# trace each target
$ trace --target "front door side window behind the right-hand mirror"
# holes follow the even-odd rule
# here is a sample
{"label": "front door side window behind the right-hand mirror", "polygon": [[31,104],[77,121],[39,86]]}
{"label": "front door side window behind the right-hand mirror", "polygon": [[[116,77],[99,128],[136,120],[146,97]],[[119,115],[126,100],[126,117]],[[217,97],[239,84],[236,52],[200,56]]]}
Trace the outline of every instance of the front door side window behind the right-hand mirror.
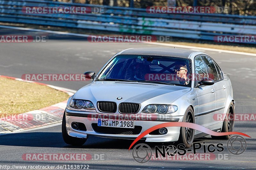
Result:
{"label": "front door side window behind the right-hand mirror", "polygon": [[196,84],[201,81],[203,77],[210,78],[207,73],[207,68],[200,55],[195,57],[195,78]]}

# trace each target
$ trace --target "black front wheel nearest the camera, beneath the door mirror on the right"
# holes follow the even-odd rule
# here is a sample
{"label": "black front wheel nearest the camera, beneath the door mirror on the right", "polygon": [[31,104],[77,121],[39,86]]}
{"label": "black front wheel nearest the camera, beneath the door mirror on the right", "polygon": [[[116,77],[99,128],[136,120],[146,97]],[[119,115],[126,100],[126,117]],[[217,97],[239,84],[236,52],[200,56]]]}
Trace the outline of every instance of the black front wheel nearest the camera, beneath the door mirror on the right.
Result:
{"label": "black front wheel nearest the camera, beneath the door mirror on the right", "polygon": [[[194,111],[190,106],[186,110],[182,122],[195,123]],[[195,129],[180,127],[180,136],[177,144],[184,144],[186,148],[190,148],[193,144],[194,136]]]}

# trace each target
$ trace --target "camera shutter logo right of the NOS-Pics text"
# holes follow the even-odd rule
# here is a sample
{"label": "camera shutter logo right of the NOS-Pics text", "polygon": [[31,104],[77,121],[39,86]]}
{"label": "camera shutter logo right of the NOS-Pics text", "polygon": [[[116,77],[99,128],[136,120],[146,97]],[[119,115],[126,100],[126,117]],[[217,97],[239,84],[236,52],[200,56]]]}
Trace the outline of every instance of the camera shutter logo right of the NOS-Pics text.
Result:
{"label": "camera shutter logo right of the NOS-Pics text", "polygon": [[246,140],[239,135],[232,136],[228,139],[227,148],[228,151],[234,155],[240,155],[245,152],[247,147]]}

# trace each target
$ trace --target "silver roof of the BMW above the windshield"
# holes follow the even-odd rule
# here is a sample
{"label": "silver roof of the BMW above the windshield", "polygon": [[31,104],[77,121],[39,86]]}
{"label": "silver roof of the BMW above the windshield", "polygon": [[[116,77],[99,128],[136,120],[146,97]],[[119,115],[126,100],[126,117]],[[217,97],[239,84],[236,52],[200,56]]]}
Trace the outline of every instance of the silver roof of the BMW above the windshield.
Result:
{"label": "silver roof of the BMW above the windshield", "polygon": [[130,48],[120,54],[161,55],[188,58],[191,53],[195,53],[195,51],[177,48]]}

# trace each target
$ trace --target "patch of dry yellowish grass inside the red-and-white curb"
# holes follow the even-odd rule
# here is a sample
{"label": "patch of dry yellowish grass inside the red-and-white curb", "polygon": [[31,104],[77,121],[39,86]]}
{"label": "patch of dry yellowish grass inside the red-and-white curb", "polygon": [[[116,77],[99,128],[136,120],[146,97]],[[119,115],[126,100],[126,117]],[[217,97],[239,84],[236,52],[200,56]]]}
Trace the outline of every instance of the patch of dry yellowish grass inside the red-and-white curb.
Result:
{"label": "patch of dry yellowish grass inside the red-and-white curb", "polygon": [[47,86],[0,77],[0,114],[20,114],[63,102],[68,94]]}

